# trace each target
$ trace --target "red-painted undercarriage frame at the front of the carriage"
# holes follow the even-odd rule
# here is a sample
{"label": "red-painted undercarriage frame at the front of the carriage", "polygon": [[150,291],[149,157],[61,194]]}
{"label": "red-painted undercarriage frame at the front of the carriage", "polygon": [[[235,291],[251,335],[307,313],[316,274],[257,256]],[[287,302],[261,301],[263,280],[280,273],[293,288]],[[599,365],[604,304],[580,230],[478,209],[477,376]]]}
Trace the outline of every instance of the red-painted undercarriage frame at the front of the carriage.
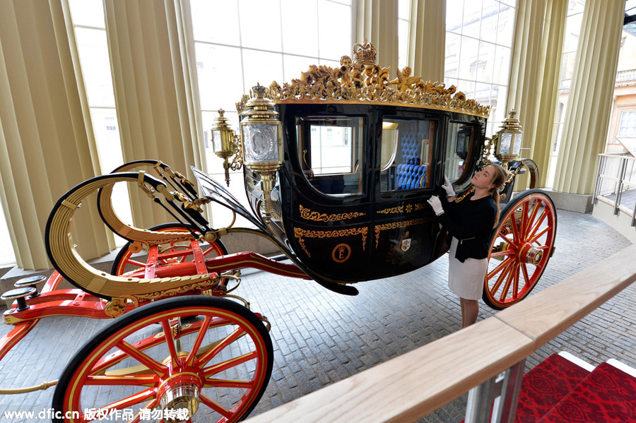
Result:
{"label": "red-painted undercarriage frame at the front of the carriage", "polygon": [[[191,261],[185,261],[188,256],[194,257]],[[289,278],[310,279],[305,272],[294,264],[281,263],[271,260],[260,254],[252,252],[242,252],[237,254],[227,254],[213,258],[204,258],[204,252],[199,243],[193,241],[190,248],[179,251],[169,251],[160,253],[158,246],[151,246],[148,250],[148,261],[146,263],[129,261],[139,267],[131,273],[126,273],[130,278],[172,278],[187,275],[220,275],[229,270],[239,270],[243,268],[255,268],[265,270],[275,275],[287,276]],[[7,318],[20,319],[9,333],[0,338],[0,359],[11,350],[13,345],[23,339],[31,329],[35,327],[40,318],[48,316],[81,316],[88,318],[110,318],[105,313],[104,307],[107,304],[105,299],[95,297],[80,289],[58,290],[62,276],[55,271],[42,287],[40,295],[28,297],[26,303],[28,309],[17,310],[16,302],[11,309],[4,312],[5,322]],[[201,294],[201,290],[185,292],[184,295]],[[213,292],[214,294],[214,292]],[[126,306],[126,312],[134,309],[134,304]]]}

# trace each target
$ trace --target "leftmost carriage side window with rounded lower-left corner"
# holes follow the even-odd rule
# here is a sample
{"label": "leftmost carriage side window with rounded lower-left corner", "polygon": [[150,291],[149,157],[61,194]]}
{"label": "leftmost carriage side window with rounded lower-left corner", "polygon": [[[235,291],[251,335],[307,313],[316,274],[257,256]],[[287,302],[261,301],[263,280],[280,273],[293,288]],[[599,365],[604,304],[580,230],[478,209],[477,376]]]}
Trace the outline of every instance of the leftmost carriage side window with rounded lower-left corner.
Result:
{"label": "leftmost carriage side window with rounded lower-left corner", "polygon": [[362,192],[363,118],[296,119],[300,164],[315,189],[329,195]]}

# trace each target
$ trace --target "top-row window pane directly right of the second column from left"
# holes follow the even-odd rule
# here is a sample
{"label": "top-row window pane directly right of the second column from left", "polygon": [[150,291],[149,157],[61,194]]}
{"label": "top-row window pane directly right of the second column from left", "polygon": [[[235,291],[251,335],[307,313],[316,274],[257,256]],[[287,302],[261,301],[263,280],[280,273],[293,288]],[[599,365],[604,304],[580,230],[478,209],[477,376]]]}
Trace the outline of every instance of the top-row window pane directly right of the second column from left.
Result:
{"label": "top-row window pane directly right of the second column from left", "polygon": [[240,45],[237,0],[191,0],[194,40]]}

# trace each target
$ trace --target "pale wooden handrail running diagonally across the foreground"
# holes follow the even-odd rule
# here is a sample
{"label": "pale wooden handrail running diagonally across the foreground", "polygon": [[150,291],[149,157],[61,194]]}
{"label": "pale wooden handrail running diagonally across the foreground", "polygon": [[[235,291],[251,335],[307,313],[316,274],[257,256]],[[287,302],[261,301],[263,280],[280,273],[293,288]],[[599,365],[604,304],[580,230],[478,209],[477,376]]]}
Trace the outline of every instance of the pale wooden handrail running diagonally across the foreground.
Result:
{"label": "pale wooden handrail running diagonally across the foreground", "polygon": [[636,244],[469,328],[247,419],[414,422],[531,355],[636,280]]}

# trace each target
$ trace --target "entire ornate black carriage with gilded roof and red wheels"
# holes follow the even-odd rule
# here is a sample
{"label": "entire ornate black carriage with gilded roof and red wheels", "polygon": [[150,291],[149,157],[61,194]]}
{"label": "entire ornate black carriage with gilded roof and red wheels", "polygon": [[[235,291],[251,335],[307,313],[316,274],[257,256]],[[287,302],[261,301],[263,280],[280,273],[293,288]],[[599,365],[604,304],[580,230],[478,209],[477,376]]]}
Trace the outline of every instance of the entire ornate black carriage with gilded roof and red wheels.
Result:
{"label": "entire ornate black carriage with gilded roof and red wheels", "polygon": [[[33,387],[57,383],[55,421],[134,409],[134,422],[157,410],[166,422],[189,422],[205,405],[202,421],[237,422],[258,402],[273,362],[269,322],[230,294],[240,269],[356,294],[355,282],[416,270],[447,251],[448,234],[426,200],[440,195],[444,176],[456,191],[469,189],[476,169],[493,160],[493,140],[484,135],[490,107],[408,68],[389,78],[370,43],[353,53],[340,67],[312,66],[290,83],[257,85],[237,104],[240,136],[220,112],[213,148],[228,184],[229,169],[244,168],[252,210],[204,172],[192,168],[196,189],[157,160],[126,163],[59,199],[46,230],[57,271],[39,295],[30,287],[44,282],[37,278],[5,294],[16,303],[4,320],[16,328],[1,340],[0,358],[45,316],[117,319],[76,353],[59,381]],[[510,174],[484,280],[483,299],[497,309],[531,292],[555,240],[550,198],[536,189],[512,196],[521,172],[531,188],[538,184],[534,162],[519,159],[519,129],[511,114],[494,137],[495,157]],[[119,182],[136,184],[179,222],[126,224],[111,200]],[[84,261],[70,236],[73,216],[95,191],[102,220],[128,240],[110,273]],[[212,227],[203,214],[212,201],[252,227],[233,227],[234,220]],[[237,232],[271,240],[287,260],[228,254],[223,237]],[[62,278],[77,289],[59,289]]]}

